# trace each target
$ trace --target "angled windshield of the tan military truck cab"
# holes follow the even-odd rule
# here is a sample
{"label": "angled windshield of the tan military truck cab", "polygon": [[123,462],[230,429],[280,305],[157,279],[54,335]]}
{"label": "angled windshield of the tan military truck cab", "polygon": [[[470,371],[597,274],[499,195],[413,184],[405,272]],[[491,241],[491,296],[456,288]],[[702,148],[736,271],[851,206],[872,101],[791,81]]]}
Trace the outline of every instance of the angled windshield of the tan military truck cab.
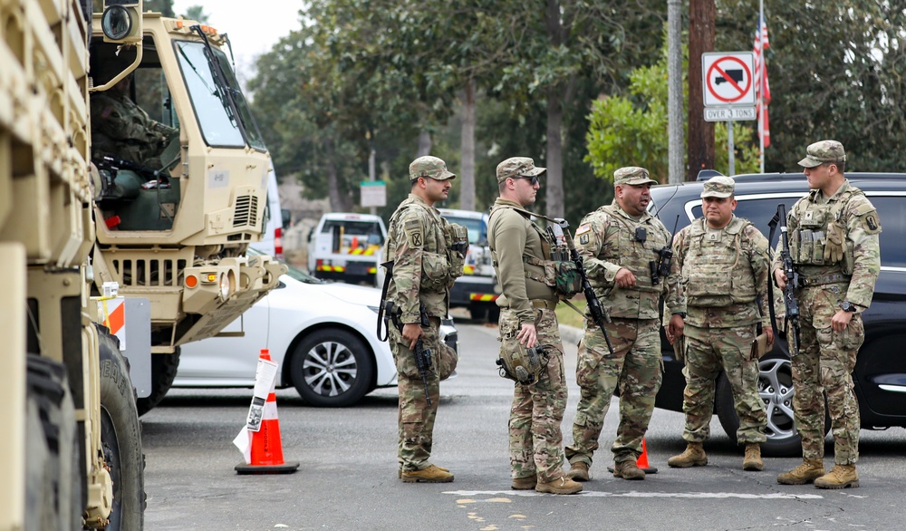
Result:
{"label": "angled windshield of the tan military truck cab", "polygon": [[[236,76],[230,70],[226,54],[217,49],[212,49],[226,74],[225,90],[229,91],[238,111],[234,116],[228,101],[221,100],[221,91],[218,90],[217,81],[211,66],[205,57],[205,44],[189,41],[177,41],[176,53],[183,79],[188,87],[188,95],[192,100],[192,108],[198,118],[198,125],[205,137],[208,146],[220,148],[244,148],[246,141],[249,146],[265,150],[265,142],[261,138],[258,126],[248,110],[248,104]],[[240,123],[241,121],[241,127]],[[248,138],[243,138],[245,130]]]}

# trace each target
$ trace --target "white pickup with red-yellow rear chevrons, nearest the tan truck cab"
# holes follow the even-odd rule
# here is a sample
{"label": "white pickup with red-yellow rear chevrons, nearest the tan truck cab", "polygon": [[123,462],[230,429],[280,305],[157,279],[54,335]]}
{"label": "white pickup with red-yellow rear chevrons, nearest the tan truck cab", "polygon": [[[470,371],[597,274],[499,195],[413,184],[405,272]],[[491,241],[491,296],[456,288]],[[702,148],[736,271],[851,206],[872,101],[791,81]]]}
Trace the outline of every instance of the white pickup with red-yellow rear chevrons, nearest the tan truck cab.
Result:
{"label": "white pickup with red-yellow rear chevrons, nearest the tan truck cab", "polygon": [[318,278],[375,285],[385,239],[380,216],[324,214],[309,237],[308,271]]}

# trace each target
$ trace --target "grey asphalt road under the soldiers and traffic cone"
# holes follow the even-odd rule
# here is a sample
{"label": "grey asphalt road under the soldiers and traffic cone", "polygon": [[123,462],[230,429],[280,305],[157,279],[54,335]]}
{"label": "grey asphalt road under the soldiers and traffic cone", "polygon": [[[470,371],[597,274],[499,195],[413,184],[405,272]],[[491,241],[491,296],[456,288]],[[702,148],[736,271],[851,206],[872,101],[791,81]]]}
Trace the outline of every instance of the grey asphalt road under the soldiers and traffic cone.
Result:
{"label": "grey asphalt road under the soldiers and traffic cone", "polygon": [[[506,420],[512,382],[496,373],[496,328],[458,322],[458,377],[441,384],[433,461],[450,468],[448,484],[403,484],[397,478],[395,389],[359,405],[324,410],[294,390],[277,391],[284,458],[291,475],[238,476],[232,439],[245,422],[251,390],[177,390],[142,418],[147,465],[145,528],[169,529],[900,529],[906,478],[906,430],[863,430],[862,487],[819,490],[776,483],[799,459],[766,459],[743,472],[742,452],[711,423],[708,466],[672,469],[682,415],[656,410],[646,438],[657,474],[615,479],[610,444],[612,402],[595,455],[592,481],[575,496],[509,489]],[[250,354],[250,355],[255,355]],[[579,391],[575,348],[567,345],[570,400],[564,441],[572,440]],[[825,467],[833,466],[828,445]]]}

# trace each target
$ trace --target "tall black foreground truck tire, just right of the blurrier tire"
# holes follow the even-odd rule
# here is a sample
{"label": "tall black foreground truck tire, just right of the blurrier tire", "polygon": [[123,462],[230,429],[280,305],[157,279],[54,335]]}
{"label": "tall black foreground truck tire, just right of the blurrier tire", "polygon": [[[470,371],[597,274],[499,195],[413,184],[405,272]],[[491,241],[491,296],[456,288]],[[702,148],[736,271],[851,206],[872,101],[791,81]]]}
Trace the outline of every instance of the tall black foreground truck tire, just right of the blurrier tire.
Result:
{"label": "tall black foreground truck tire, just right of the blurrier tire", "polygon": [[139,414],[129,365],[115,340],[99,333],[101,343],[101,449],[113,480],[113,510],[108,531],[141,529],[145,512],[145,457],[141,453]]}

